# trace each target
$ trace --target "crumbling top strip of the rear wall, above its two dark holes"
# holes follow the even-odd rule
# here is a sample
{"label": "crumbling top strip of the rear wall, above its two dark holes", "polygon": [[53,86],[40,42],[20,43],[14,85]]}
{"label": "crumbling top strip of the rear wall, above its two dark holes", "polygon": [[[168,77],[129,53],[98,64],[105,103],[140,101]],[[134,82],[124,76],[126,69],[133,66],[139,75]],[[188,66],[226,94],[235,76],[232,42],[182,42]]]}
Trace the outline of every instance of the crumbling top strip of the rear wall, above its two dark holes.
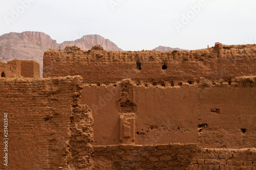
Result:
{"label": "crumbling top strip of the rear wall, above its two dark holes", "polygon": [[[64,53],[64,54],[61,54]],[[66,53],[66,54],[65,54]],[[67,46],[62,50],[48,50],[44,58],[61,60],[81,60],[81,62],[168,62],[168,61],[207,61],[227,59],[255,59],[256,44],[223,45],[219,42],[214,47],[191,51],[105,51],[101,46],[93,46],[89,51],[82,51],[78,46]]]}

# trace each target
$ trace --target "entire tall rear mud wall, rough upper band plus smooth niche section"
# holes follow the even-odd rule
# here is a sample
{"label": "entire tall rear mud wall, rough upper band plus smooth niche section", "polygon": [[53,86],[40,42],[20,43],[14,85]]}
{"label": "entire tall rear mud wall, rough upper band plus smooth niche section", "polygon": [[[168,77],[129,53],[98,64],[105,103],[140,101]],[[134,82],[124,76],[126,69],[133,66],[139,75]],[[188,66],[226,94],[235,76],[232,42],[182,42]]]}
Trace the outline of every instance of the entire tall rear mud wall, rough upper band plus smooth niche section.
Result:
{"label": "entire tall rear mud wall, rough upper band plus smooth niche section", "polygon": [[255,50],[220,43],[182,52],[73,46],[45,52],[44,76],[83,77],[81,103],[93,111],[95,145],[255,148]]}

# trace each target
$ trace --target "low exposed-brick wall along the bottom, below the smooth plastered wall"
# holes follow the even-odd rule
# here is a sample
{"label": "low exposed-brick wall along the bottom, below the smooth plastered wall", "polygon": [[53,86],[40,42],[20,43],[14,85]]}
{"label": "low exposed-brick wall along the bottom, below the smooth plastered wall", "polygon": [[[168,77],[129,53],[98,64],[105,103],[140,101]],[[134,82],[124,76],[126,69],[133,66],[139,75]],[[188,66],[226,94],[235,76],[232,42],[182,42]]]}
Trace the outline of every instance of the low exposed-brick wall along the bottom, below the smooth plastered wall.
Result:
{"label": "low exposed-brick wall along the bottom, below the smooth plastered wall", "polygon": [[201,149],[196,144],[93,148],[95,169],[256,169],[255,149]]}

